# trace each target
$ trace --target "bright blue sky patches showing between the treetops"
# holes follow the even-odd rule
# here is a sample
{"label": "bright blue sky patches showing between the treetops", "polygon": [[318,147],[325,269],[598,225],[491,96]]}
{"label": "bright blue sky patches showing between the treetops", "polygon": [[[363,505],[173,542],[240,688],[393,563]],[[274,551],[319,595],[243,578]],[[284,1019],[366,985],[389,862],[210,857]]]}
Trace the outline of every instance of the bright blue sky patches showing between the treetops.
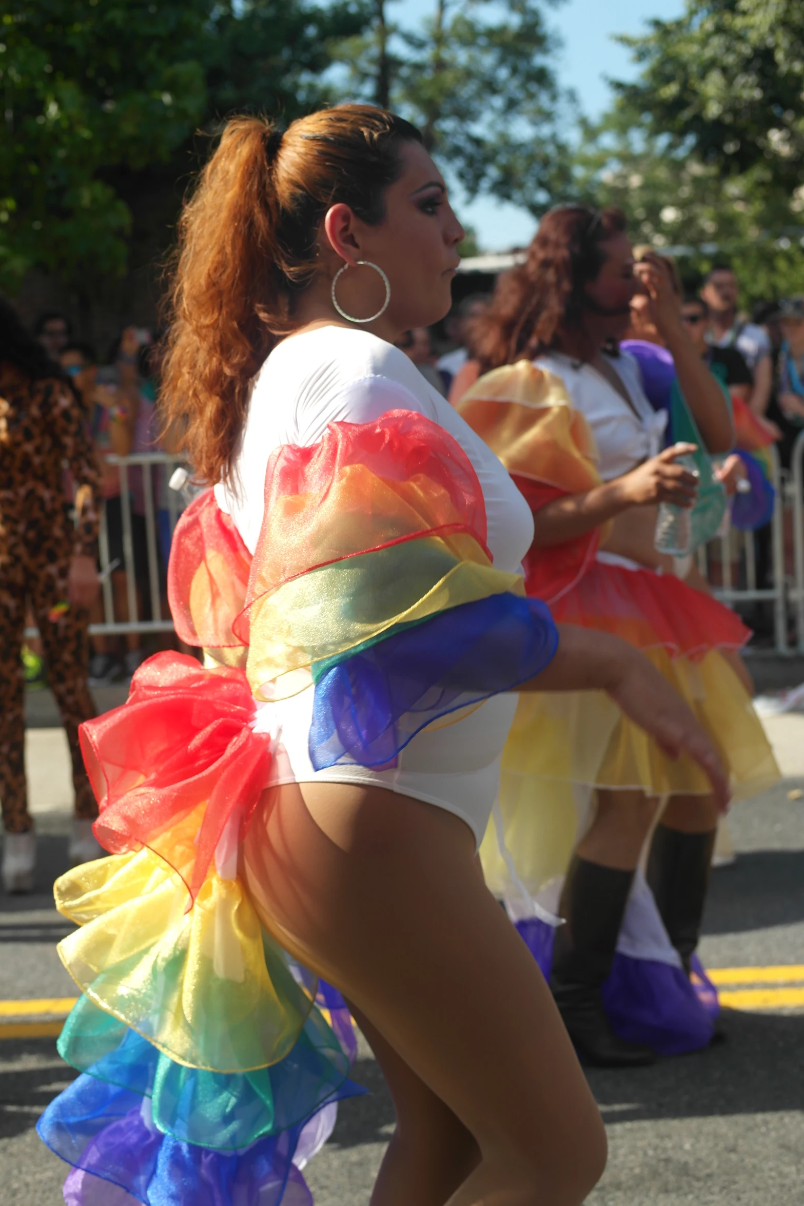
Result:
{"label": "bright blue sky patches showing between the treetops", "polygon": [[[575,89],[589,117],[599,116],[610,100],[605,77],[628,80],[635,74],[627,48],[611,35],[639,34],[651,17],[673,19],[683,7],[683,0],[564,0],[547,8],[547,21],[564,43],[557,60],[561,83]],[[415,24],[432,11],[433,0],[404,0],[394,16]],[[526,244],[533,235],[535,222],[523,210],[491,198],[463,205],[454,199],[462,221],[476,229],[486,250]]]}

